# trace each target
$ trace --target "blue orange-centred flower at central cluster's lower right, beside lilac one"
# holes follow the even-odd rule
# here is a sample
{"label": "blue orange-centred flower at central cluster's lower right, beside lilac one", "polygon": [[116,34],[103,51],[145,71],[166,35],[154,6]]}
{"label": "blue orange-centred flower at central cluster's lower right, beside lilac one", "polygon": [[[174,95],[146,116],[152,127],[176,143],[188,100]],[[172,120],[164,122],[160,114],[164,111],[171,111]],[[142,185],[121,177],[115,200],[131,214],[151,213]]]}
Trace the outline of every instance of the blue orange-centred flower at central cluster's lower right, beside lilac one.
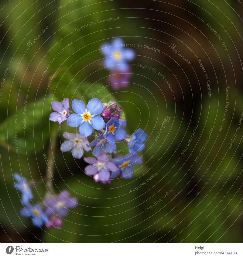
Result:
{"label": "blue orange-centred flower at central cluster's lower right, beside lilac one", "polygon": [[142,164],[142,157],[137,156],[137,153],[129,153],[124,157],[118,157],[112,160],[117,167],[117,171],[111,172],[111,178],[117,177],[120,173],[124,178],[131,178],[133,174],[133,165]]}

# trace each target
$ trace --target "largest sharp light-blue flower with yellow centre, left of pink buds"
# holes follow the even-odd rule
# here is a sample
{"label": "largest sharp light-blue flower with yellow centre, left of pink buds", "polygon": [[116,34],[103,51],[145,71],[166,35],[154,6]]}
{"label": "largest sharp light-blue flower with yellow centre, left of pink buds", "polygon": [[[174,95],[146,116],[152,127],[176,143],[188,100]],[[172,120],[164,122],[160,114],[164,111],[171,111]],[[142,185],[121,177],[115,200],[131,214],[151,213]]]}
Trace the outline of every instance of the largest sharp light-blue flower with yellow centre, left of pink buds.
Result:
{"label": "largest sharp light-blue flower with yellow centre, left of pink buds", "polygon": [[77,114],[71,114],[67,119],[67,123],[72,127],[79,126],[79,132],[84,137],[90,136],[93,128],[95,130],[104,128],[104,120],[99,115],[103,111],[103,105],[98,98],[92,98],[87,107],[85,107],[84,101],[74,99],[72,108]]}

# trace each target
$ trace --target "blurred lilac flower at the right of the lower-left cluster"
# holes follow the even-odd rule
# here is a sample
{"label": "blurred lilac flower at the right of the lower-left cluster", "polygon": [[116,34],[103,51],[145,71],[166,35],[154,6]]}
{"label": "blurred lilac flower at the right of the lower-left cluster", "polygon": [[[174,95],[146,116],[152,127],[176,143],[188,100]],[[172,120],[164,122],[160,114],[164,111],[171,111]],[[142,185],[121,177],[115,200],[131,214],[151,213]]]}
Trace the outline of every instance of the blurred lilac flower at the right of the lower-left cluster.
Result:
{"label": "blurred lilac flower at the right of the lower-left cluster", "polygon": [[70,193],[64,190],[57,197],[47,198],[45,204],[47,206],[45,212],[48,216],[56,214],[63,218],[67,216],[68,209],[77,206],[77,198],[70,197]]}

